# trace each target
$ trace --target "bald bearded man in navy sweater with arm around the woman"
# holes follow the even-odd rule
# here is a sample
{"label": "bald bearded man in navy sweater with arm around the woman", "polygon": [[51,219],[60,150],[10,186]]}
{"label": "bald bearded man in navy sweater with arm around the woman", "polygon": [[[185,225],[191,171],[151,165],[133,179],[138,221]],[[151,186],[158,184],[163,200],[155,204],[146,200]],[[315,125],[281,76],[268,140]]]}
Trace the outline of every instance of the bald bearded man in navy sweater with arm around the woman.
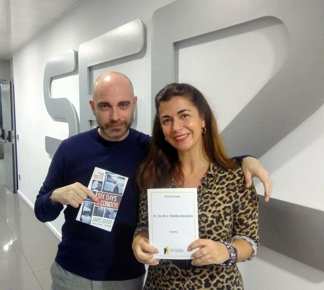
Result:
{"label": "bald bearded man in navy sweater with arm around the woman", "polygon": [[[52,290],[142,289],[145,268],[131,245],[139,201],[135,171],[150,137],[131,128],[136,102],[125,75],[99,76],[89,100],[98,127],[65,139],[53,156],[35,202],[36,217],[42,222],[56,219],[67,205],[62,242],[51,268]],[[95,167],[129,178],[111,232],[75,220],[84,199],[98,200],[87,188]],[[247,159],[242,169],[247,186],[251,176],[258,175],[270,196],[271,180],[259,162]]]}

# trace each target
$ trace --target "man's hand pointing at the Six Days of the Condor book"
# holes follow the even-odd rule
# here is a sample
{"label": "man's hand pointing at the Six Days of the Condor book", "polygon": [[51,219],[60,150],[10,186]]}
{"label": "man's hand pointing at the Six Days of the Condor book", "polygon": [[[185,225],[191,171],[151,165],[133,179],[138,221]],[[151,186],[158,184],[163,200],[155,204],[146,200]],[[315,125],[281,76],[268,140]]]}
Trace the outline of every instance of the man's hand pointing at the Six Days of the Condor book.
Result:
{"label": "man's hand pointing at the Six Days of the Condor book", "polygon": [[91,198],[93,201],[98,201],[98,198],[90,189],[79,182],[75,182],[73,184],[55,189],[52,192],[51,201],[54,204],[69,204],[74,208],[78,208],[82,201],[87,197]]}

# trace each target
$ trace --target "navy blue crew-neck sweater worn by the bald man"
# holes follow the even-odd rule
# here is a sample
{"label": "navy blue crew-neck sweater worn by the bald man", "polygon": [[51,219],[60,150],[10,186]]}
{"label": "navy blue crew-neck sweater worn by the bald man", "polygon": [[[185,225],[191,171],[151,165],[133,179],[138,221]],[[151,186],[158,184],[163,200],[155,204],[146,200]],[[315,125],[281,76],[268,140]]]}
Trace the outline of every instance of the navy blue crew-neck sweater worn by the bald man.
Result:
{"label": "navy blue crew-neck sweater worn by the bald man", "polygon": [[139,202],[135,171],[149,141],[148,135],[130,129],[124,140],[110,142],[95,128],[64,140],[57,149],[35,202],[36,217],[42,222],[56,219],[63,209],[51,203],[52,191],[75,182],[87,187],[95,167],[129,177],[111,232],[76,221],[79,209],[66,207],[55,258],[65,270],[99,281],[134,279],[145,273],[144,264],[133,255],[132,241]]}

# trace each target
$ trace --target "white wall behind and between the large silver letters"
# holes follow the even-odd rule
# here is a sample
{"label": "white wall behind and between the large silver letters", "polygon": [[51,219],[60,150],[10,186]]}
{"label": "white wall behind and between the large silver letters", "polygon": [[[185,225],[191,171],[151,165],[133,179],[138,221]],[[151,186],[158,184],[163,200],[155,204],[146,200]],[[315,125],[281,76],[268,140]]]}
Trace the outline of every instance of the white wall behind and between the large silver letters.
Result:
{"label": "white wall behind and between the large silver letters", "polygon": [[[16,127],[17,134],[19,134],[17,163],[18,173],[21,175],[19,194],[31,206],[35,202],[51,162],[50,156],[45,152],[45,136],[61,139],[68,136],[67,124],[54,121],[45,108],[43,73],[47,60],[70,48],[77,51],[83,42],[135,18],[141,18],[145,24],[147,36],[143,57],[134,57],[129,63],[108,68],[100,66],[93,72],[93,78],[95,79],[99,74],[110,69],[128,75],[133,81],[135,94],[139,98],[138,115],[140,117],[137,129],[150,133],[151,17],[157,8],[170,2],[172,1],[85,1],[13,55]],[[270,37],[273,34],[276,35],[275,38]],[[245,35],[220,37],[190,47],[179,44],[176,47],[178,79],[191,82],[206,94],[217,112],[220,127],[223,129],[283,64],[288,46],[286,34],[284,26],[278,24],[257,28]],[[242,49],[242,39],[245,43],[244,57],[237,57],[233,61],[238,48]],[[215,51],[218,56],[222,55],[222,57],[215,57]],[[239,70],[240,67],[244,67],[245,70]],[[249,73],[246,73],[247,70]],[[199,73],[201,71],[203,71],[204,78],[199,78],[202,75]],[[233,71],[236,71],[235,75],[232,74]],[[220,94],[213,94],[215,87],[218,92],[221,91]],[[53,97],[67,97],[79,113],[77,74],[54,80],[52,94]],[[323,172],[321,164],[324,157],[323,113],[324,107],[319,108],[315,114],[260,158],[272,175],[273,198],[324,210],[324,179],[321,176]],[[257,189],[262,194],[263,188],[258,182]],[[61,214],[56,221],[51,223],[52,230],[58,236],[61,233],[63,221]],[[262,278],[257,281],[258,287],[255,277],[248,274],[248,270],[245,271],[246,289],[265,289],[262,287],[263,284],[271,285],[273,276],[269,275],[268,271],[276,269],[280,272],[282,262],[288,263],[291,269],[300,266],[295,260],[285,260],[286,257],[278,254],[278,267],[274,265],[274,268],[269,268],[267,257],[271,255],[266,255],[263,259],[254,262],[259,271],[258,275]],[[245,263],[244,267],[245,265],[249,269],[249,263]],[[310,274],[314,272],[312,269],[305,266],[305,273],[309,273],[310,278],[303,280],[301,288],[318,287],[319,282]],[[289,271],[282,275],[285,289],[299,288],[298,279],[299,282],[294,284],[296,275],[298,276],[299,273]]]}

